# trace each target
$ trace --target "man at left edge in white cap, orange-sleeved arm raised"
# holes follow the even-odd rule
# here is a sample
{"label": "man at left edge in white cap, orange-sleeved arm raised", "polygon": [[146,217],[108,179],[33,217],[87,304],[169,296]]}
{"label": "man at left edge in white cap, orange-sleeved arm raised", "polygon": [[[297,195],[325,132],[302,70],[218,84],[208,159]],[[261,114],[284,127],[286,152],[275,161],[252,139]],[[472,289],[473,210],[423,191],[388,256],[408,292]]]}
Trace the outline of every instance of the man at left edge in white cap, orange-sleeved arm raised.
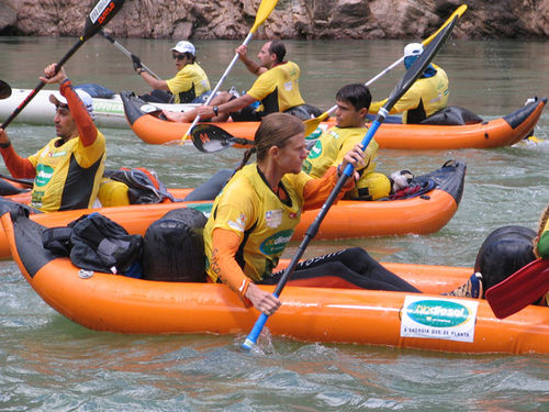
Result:
{"label": "man at left edge in white cap, orange-sleeved arm raised", "polygon": [[32,178],[31,207],[43,212],[91,208],[103,177],[105,140],[93,124],[90,94],[74,89],[61,67],[44,69],[40,79],[59,83],[60,97],[51,94],[55,104],[57,136],[34,155],[23,158],[15,153],[8,134],[0,129],[0,153],[14,178]]}

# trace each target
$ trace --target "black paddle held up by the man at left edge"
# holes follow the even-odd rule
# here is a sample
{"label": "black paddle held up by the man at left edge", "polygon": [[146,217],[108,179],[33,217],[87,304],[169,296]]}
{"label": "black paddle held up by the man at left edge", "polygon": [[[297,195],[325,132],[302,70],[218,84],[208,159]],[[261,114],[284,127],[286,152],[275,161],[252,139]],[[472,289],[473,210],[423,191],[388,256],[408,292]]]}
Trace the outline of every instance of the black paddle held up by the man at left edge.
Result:
{"label": "black paddle held up by the man at left edge", "polygon": [[[56,74],[59,68],[80,48],[80,46],[90,37],[92,37],[103,25],[105,25],[113,16],[122,9],[124,0],[99,0],[93,10],[86,19],[86,25],[83,27],[83,34],[80,36],[78,42],[67,52],[65,56],[57,62]],[[10,114],[10,116],[2,123],[1,129],[8,127],[8,124],[12,122],[15,116],[21,113],[29,102],[34,99],[40,90],[46,83],[41,80],[38,86],[36,86],[33,91],[18,105],[18,108]]]}

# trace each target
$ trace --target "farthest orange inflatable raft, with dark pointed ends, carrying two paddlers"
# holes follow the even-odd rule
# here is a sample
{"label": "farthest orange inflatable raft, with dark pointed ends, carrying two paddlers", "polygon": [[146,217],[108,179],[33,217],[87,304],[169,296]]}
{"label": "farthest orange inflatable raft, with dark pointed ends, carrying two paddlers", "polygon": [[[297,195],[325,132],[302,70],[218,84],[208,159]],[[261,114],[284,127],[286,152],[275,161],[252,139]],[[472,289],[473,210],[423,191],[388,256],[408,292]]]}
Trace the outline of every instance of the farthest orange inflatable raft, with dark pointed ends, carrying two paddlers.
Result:
{"label": "farthest orange inflatable raft, with dark pointed ends, carrying two paddlers", "polygon": [[[159,112],[150,112],[145,102],[132,93],[122,92],[127,122],[145,143],[168,144],[181,141],[189,123],[175,123],[160,119]],[[383,123],[376,133],[381,148],[395,149],[451,149],[490,148],[511,146],[527,137],[538,122],[547,98],[514,111],[513,113],[467,125],[427,125]],[[145,109],[143,109],[145,107]],[[236,137],[253,140],[258,122],[213,123]],[[318,134],[335,124],[332,118],[322,123]]]}

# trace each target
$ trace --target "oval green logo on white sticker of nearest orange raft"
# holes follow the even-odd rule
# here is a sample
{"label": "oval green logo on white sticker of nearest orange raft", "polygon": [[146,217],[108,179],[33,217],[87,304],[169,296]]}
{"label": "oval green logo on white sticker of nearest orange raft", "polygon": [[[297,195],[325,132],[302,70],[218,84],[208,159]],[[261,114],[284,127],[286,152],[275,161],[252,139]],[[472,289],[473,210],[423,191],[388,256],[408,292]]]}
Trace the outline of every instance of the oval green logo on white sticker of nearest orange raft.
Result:
{"label": "oval green logo on white sticker of nearest orange raft", "polygon": [[445,300],[419,300],[405,308],[405,311],[413,321],[433,327],[458,326],[471,316],[464,305]]}

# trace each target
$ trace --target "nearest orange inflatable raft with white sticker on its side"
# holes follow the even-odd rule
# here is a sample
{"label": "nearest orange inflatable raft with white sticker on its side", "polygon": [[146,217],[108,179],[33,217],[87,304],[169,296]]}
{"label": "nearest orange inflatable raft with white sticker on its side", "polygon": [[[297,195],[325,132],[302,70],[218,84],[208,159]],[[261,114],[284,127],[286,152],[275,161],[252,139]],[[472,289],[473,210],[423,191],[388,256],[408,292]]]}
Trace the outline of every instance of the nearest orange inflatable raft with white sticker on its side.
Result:
{"label": "nearest orange inflatable raft with white sticker on its side", "polygon": [[[258,316],[221,283],[163,282],[81,270],[42,246],[43,226],[18,213],[2,224],[24,278],[42,299],[91,330],[246,334]],[[12,224],[13,219],[13,224]],[[485,301],[444,298],[472,268],[386,264],[425,294],[288,283],[267,327],[303,342],[462,353],[548,354],[549,308],[497,320]],[[272,291],[272,287],[261,287]]]}

